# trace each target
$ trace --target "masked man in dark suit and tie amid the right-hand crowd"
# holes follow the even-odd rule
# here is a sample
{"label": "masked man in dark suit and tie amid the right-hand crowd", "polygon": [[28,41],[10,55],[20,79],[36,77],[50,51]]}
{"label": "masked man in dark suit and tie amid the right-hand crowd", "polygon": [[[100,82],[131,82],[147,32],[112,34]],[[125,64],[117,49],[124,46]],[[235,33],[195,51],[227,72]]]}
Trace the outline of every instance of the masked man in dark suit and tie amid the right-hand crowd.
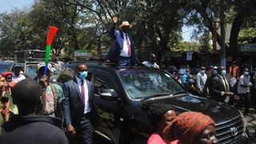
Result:
{"label": "masked man in dark suit and tie amid the right-hand crowd", "polygon": [[234,93],[230,92],[224,66],[218,67],[218,74],[210,82],[210,96],[215,101],[226,103],[230,102],[230,97],[234,96]]}

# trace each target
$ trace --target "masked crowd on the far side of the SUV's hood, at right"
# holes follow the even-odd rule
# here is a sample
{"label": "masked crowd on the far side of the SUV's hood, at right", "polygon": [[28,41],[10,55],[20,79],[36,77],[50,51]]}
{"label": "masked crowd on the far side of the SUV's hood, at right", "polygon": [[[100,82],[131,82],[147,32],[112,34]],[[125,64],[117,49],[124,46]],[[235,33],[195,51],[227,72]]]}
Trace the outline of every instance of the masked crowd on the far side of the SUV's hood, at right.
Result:
{"label": "masked crowd on the far side of the SUV's hood, at right", "polygon": [[248,68],[240,70],[237,65],[230,66],[228,71],[224,66],[210,65],[208,70],[201,66],[197,74],[191,74],[186,66],[180,70],[170,66],[168,71],[191,94],[225,102],[236,108],[244,105],[244,115],[249,114],[250,99],[255,94],[256,71],[250,73]]}

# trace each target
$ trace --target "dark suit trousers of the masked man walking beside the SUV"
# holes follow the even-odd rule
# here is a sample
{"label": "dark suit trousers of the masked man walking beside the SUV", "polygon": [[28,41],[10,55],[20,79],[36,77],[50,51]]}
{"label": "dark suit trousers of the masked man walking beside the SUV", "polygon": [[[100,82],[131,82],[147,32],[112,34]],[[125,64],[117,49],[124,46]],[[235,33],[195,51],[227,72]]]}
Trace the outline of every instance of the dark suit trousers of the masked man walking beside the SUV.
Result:
{"label": "dark suit trousers of the masked man walking beside the SUV", "polygon": [[75,126],[76,136],[69,138],[70,144],[91,144],[93,143],[94,126],[91,123],[92,116],[84,114],[78,126]]}

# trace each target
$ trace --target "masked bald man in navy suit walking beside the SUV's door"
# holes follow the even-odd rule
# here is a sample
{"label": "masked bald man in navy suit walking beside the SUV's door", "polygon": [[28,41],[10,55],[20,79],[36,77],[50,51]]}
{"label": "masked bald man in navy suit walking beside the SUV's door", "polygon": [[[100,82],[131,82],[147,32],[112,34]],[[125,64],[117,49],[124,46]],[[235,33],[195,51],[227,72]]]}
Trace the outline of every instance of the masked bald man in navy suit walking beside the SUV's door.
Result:
{"label": "masked bald man in navy suit walking beside the SUV's door", "polygon": [[78,143],[92,143],[94,132],[94,86],[86,80],[87,66],[77,65],[77,77],[63,84],[62,102],[68,134]]}

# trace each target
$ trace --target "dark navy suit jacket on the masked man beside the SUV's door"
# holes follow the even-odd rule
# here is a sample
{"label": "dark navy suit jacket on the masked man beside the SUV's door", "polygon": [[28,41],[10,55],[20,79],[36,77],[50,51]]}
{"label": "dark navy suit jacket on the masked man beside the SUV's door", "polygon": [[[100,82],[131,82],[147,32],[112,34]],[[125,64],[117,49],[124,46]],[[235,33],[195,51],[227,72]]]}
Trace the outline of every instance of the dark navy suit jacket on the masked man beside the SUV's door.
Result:
{"label": "dark navy suit jacket on the masked man beside the SUV's door", "polygon": [[[90,103],[90,112],[92,113],[93,124],[95,118],[94,106],[94,86],[92,82],[86,80],[88,88],[88,97]],[[63,84],[64,99],[62,101],[63,115],[65,126],[72,125],[74,128],[79,128],[81,118],[84,113],[85,106],[82,104],[81,94],[78,87],[77,78],[73,78]]]}

